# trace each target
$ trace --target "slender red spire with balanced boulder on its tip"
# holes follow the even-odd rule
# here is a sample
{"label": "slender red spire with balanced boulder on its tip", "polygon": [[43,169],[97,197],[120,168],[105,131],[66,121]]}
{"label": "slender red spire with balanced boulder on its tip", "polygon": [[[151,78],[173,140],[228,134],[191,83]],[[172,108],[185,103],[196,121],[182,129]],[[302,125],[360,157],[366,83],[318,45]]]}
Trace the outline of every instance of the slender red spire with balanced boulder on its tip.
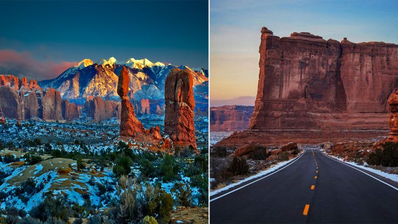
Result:
{"label": "slender red spire with balanced boulder on its tip", "polygon": [[139,133],[145,133],[145,128],[142,123],[135,117],[134,108],[129,101],[129,75],[127,69],[123,69],[119,74],[119,81],[117,84],[117,94],[121,99],[121,114],[120,114],[120,136],[136,136]]}

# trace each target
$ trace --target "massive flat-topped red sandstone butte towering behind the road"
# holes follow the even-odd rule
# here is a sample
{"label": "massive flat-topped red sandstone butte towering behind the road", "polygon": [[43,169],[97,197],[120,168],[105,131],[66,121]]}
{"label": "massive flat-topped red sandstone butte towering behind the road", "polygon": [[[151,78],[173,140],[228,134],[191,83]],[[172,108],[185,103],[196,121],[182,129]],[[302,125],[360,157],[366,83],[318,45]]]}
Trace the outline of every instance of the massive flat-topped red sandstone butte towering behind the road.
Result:
{"label": "massive flat-topped red sandstone butte towering behind the road", "polygon": [[263,27],[249,129],[386,129],[398,82],[398,45],[278,37]]}

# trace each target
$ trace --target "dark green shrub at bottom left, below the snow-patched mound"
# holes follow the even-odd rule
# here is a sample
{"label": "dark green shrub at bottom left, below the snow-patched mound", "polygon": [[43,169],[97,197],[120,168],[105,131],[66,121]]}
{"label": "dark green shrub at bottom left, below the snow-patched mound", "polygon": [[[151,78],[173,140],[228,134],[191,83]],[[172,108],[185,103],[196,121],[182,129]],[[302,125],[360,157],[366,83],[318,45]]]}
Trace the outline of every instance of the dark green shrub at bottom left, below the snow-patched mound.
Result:
{"label": "dark green shrub at bottom left, below the snow-patched mound", "polygon": [[72,209],[62,196],[46,197],[40,204],[29,211],[29,215],[43,222],[58,222],[56,219],[68,222],[69,217],[72,215]]}

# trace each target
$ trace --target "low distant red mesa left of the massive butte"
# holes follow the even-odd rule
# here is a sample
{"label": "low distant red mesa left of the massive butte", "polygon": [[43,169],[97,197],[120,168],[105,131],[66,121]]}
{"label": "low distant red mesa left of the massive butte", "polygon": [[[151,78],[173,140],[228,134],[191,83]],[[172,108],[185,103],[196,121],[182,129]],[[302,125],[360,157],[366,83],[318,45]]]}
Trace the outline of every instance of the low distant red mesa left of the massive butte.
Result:
{"label": "low distant red mesa left of the massive butte", "polygon": [[210,108],[210,131],[247,129],[253,109],[254,107],[252,106],[236,105]]}

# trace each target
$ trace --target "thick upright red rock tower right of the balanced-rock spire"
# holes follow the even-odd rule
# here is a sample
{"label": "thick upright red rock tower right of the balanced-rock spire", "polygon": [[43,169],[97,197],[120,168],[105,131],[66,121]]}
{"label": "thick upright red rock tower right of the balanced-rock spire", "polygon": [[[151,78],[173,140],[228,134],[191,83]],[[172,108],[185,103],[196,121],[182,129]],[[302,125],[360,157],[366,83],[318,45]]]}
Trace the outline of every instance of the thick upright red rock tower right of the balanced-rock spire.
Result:
{"label": "thick upright red rock tower right of the balanced-rock spire", "polygon": [[165,133],[181,146],[197,148],[194,124],[193,74],[172,69],[165,82]]}

